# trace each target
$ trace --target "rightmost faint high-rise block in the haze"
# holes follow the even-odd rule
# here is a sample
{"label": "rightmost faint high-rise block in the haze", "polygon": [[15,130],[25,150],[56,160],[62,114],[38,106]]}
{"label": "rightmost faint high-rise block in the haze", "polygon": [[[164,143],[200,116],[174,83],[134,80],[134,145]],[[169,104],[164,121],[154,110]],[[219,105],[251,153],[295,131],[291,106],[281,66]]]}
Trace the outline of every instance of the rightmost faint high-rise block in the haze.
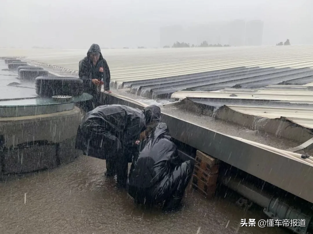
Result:
{"label": "rightmost faint high-rise block in the haze", "polygon": [[263,39],[263,21],[253,20],[246,23],[246,46],[261,46]]}

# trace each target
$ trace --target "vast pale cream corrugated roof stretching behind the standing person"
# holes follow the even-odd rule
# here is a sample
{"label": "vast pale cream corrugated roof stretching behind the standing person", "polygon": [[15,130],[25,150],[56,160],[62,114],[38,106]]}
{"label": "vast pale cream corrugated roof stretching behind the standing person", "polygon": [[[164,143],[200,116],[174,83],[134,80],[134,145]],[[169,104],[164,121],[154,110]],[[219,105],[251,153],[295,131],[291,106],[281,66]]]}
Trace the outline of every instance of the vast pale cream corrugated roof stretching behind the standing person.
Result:
{"label": "vast pale cream corrugated roof stretching behind the standing person", "polygon": [[[0,56],[27,56],[46,65],[77,71],[86,50],[0,49]],[[313,46],[259,46],[102,50],[115,85],[241,66],[313,67]]]}

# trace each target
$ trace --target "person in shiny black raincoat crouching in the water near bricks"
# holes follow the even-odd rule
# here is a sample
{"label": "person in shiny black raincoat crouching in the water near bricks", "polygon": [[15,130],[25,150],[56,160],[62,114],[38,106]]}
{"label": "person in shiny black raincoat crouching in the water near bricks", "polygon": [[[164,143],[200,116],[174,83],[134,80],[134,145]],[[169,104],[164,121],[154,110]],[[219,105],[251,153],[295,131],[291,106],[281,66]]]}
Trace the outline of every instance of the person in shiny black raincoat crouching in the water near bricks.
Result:
{"label": "person in shiny black raincoat crouching in the water near bricks", "polygon": [[159,123],[141,143],[128,177],[128,194],[138,204],[164,202],[163,211],[176,210],[191,178],[190,161],[182,162],[165,123]]}

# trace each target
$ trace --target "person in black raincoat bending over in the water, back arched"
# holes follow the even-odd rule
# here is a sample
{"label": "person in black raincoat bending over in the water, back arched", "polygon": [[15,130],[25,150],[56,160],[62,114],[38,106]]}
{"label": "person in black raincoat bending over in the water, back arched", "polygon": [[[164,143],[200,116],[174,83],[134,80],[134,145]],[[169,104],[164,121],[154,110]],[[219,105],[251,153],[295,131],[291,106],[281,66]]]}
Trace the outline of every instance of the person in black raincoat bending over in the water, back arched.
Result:
{"label": "person in black raincoat bending over in the water, back arched", "polygon": [[160,122],[156,105],[143,110],[125,105],[103,105],[88,112],[77,131],[76,149],[85,155],[106,159],[106,175],[117,175],[119,187],[127,183],[127,163],[138,152],[137,144],[146,127]]}

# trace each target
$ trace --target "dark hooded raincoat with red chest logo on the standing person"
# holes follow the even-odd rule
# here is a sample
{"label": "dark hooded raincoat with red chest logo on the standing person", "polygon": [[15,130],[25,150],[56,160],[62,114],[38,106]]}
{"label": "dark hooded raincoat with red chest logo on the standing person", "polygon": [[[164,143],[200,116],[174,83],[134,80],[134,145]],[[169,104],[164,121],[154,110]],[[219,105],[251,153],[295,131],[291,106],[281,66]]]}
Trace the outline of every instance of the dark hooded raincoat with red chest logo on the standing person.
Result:
{"label": "dark hooded raincoat with red chest logo on the standing person", "polygon": [[[97,64],[94,66],[90,57],[91,52],[99,52],[100,57]],[[104,90],[110,90],[110,69],[103,58],[100,50],[100,46],[92,44],[87,52],[87,56],[79,62],[79,78],[84,82],[84,92],[94,95],[98,93],[97,85],[94,85],[91,80],[98,79],[103,80]]]}

